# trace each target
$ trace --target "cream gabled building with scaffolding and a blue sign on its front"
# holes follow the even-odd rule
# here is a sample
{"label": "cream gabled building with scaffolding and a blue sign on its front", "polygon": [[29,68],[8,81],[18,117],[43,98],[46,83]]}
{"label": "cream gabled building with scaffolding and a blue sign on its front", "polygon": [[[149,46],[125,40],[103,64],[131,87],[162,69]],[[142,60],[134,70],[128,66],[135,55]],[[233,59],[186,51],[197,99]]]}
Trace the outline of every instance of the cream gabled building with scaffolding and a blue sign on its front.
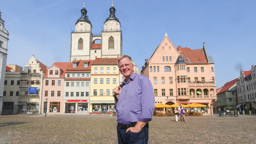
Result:
{"label": "cream gabled building with scaffolding and a blue sign on its front", "polygon": [[[38,72],[31,72],[31,67],[27,66],[24,71],[20,72],[19,98],[18,104],[20,108],[17,113],[25,114],[26,112],[39,113],[40,106],[40,78]],[[31,88],[36,92],[31,92]]]}

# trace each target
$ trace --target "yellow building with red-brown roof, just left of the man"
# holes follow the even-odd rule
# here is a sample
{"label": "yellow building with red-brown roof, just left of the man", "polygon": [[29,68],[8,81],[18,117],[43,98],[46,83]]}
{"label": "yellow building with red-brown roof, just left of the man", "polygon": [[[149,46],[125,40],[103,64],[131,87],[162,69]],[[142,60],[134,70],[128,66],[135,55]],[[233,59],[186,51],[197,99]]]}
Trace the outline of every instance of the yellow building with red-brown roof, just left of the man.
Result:
{"label": "yellow building with red-brown roof, just left of the man", "polygon": [[96,58],[91,68],[90,114],[110,114],[115,102],[112,90],[119,85],[117,58]]}

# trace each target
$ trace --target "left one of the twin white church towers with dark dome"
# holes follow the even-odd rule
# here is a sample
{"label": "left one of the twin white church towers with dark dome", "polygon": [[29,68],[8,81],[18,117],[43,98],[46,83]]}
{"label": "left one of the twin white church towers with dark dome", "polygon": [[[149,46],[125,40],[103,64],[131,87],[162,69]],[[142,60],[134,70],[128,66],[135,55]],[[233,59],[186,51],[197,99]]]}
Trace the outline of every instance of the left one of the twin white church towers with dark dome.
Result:
{"label": "left one of the twin white church towers with dark dome", "polygon": [[90,60],[92,24],[88,19],[86,8],[81,10],[81,17],[76,21],[76,30],[72,30],[70,41],[70,62],[74,59]]}

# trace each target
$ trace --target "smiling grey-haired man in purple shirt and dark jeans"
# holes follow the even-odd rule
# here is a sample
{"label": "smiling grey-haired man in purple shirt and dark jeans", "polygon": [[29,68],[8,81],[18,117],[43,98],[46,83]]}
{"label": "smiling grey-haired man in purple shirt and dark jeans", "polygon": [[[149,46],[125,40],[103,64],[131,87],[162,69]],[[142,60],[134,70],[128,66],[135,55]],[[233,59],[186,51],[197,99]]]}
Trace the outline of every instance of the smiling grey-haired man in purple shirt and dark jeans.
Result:
{"label": "smiling grey-haired man in purple shirt and dark jeans", "polygon": [[119,144],[147,144],[148,121],[154,112],[154,92],[146,76],[134,73],[132,58],[122,55],[118,58],[119,71],[124,75],[123,87],[116,86],[115,108],[118,112],[117,135]]}

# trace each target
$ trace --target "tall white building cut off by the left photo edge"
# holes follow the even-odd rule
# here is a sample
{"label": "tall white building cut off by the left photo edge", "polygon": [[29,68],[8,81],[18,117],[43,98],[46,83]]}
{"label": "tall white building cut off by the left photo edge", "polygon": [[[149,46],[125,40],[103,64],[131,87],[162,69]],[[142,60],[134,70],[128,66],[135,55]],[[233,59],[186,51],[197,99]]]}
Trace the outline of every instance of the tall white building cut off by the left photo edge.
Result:
{"label": "tall white building cut off by the left photo edge", "polygon": [[6,60],[8,50],[9,32],[4,28],[4,20],[1,18],[0,11],[0,114],[2,113],[4,78],[6,71]]}

